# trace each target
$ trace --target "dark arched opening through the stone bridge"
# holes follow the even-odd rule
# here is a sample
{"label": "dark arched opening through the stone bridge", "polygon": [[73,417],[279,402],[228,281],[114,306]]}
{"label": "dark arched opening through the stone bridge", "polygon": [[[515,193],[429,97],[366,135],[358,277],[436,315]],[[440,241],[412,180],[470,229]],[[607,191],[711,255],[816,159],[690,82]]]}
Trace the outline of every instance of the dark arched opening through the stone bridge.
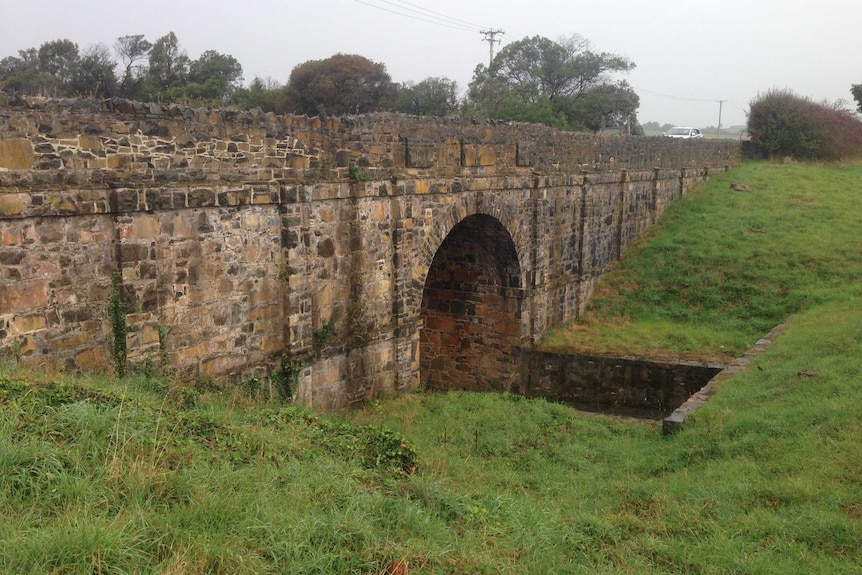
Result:
{"label": "dark arched opening through the stone bridge", "polygon": [[525,290],[512,236],[500,220],[466,216],[428,267],[419,334],[429,389],[518,391]]}

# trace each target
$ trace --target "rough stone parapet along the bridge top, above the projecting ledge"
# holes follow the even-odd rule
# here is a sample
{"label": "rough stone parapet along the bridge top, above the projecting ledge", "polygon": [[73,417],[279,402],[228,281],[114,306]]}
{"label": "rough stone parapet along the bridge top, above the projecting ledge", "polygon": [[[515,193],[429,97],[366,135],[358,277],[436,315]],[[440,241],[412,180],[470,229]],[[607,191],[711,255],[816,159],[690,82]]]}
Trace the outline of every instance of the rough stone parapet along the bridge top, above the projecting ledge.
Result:
{"label": "rough stone parapet along the bridge top, above the projecting ledge", "polygon": [[[0,188],[387,181],[735,165],[733,141],[597,137],[536,124],[341,118],[0,94]],[[353,170],[351,172],[351,170]]]}

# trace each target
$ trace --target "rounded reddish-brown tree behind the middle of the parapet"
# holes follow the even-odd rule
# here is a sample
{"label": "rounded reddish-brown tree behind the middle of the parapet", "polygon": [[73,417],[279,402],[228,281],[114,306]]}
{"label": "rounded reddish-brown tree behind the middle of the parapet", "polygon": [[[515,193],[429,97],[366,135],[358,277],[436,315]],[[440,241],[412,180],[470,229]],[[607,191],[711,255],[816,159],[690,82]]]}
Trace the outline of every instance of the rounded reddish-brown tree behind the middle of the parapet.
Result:
{"label": "rounded reddish-brown tree behind the middle of the parapet", "polygon": [[383,64],[336,54],[296,66],[281,104],[297,114],[365,114],[389,109],[396,91]]}

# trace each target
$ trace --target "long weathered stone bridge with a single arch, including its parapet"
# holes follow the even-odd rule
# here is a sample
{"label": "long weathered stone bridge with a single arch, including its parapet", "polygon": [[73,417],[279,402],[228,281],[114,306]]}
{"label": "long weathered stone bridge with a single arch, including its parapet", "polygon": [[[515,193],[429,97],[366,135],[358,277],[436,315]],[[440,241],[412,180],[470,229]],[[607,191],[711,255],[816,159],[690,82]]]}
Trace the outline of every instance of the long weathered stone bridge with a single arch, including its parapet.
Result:
{"label": "long weathered stone bridge with a single arch, including its parapet", "polygon": [[419,386],[520,391],[665,207],[737,142],[0,94],[0,353],[263,380],[339,407]]}

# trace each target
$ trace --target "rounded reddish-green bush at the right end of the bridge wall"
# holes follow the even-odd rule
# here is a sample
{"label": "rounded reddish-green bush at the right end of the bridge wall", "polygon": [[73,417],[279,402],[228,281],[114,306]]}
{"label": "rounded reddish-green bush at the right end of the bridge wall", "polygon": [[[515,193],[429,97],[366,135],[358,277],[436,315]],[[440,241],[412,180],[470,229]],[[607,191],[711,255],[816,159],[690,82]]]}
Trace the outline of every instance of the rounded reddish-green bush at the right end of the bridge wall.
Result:
{"label": "rounded reddish-green bush at the right end of the bridge wall", "polygon": [[862,122],[841,104],[771,90],[749,106],[748,133],[755,155],[797,160],[862,157]]}

